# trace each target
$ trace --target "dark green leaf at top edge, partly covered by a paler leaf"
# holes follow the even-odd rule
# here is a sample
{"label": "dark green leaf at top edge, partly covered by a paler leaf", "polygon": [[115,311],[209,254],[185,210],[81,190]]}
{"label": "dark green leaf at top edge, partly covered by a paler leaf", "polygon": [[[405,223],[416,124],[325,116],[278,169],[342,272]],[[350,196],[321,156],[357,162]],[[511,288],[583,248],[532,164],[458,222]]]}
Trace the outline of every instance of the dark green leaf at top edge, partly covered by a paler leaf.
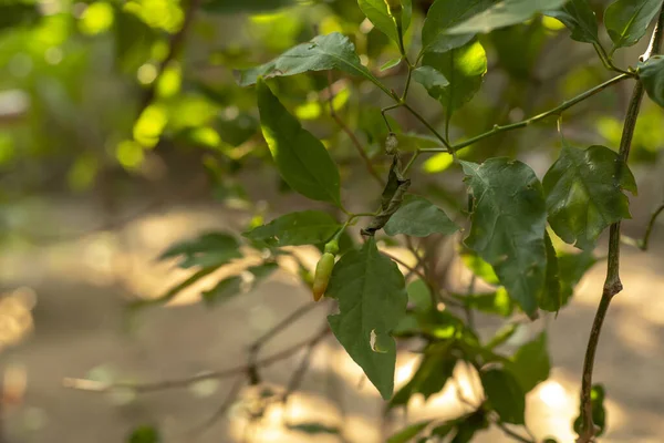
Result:
{"label": "dark green leaf at top edge, partly covered by a paler leaf", "polygon": [[422,28],[422,53],[447,52],[468,43],[475,33],[450,35],[446,31],[484,11],[491,3],[491,0],[436,0]]}

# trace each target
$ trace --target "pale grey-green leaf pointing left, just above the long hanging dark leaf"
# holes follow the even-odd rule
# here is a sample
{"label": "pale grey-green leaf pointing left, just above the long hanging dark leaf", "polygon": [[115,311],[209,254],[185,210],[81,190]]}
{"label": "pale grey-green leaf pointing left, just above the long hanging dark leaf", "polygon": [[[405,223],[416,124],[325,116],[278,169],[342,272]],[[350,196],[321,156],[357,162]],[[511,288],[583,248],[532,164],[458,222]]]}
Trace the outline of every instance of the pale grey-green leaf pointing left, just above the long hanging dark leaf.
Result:
{"label": "pale grey-green leaf pointing left, just above the long hanging dark leaf", "polygon": [[239,84],[240,86],[253,84],[259,76],[295,75],[308,71],[328,70],[340,70],[352,75],[364,76],[380,85],[378,87],[382,86],[381,82],[360,62],[353,43],[339,32],[318,35],[310,42],[289,49],[263,65],[241,71]]}

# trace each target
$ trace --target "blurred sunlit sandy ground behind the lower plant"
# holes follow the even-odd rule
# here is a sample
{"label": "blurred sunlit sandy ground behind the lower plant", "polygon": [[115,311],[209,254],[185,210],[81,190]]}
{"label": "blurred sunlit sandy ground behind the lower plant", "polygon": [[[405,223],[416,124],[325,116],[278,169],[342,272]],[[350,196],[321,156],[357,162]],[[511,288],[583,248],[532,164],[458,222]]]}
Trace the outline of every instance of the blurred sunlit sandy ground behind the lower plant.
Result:
{"label": "blurred sunlit sandy ground behind the lower plant", "polygon": [[[60,213],[53,223],[72,230],[95,226],[94,215],[74,216],[66,203],[56,203]],[[127,321],[123,309],[129,295],[155,296],[181,278],[183,274],[169,272],[169,265],[154,261],[170,240],[208,227],[239,226],[240,219],[236,213],[189,205],[139,218],[121,237],[101,233],[3,254],[3,300],[15,301],[9,311],[21,319],[18,324],[7,320],[0,305],[0,338],[2,333],[4,341],[7,337],[20,338],[18,344],[0,351],[7,442],[117,443],[125,441],[134,426],[156,424],[166,443],[298,443],[311,439],[284,430],[284,421],[320,421],[343,427],[347,442],[371,443],[384,441],[402,425],[403,416],[391,421],[381,418],[382,402],[376,392],[369,383],[359,388],[361,371],[333,340],[317,349],[301,392],[286,410],[269,409],[260,426],[247,426],[242,411],[248,401],[236,402],[221,418],[210,421],[237,378],[141,395],[63,388],[68,377],[159,381],[245,364],[252,340],[309,302],[307,290],[287,271],[215,309],[188,303],[191,293],[184,295],[183,303],[151,309],[134,322]],[[645,254],[623,248],[625,290],[611,307],[596,357],[595,380],[606,385],[609,395],[610,429],[603,442],[664,441],[664,388],[660,382],[664,374],[663,228],[653,246]],[[527,410],[528,424],[538,437],[573,439],[570,423],[578,412],[583,352],[603,275],[600,264],[579,286],[571,306],[558,319],[546,320],[554,368],[551,379],[530,393]],[[324,305],[317,307],[271,341],[261,356],[303,340],[323,323],[326,310]],[[543,323],[526,328],[513,344],[527,340]],[[266,369],[263,379],[274,389],[284,387],[301,358],[298,353]],[[413,354],[400,357],[397,383],[407,379],[415,364]],[[465,395],[478,395],[463,368],[457,370]],[[27,387],[23,394],[22,381]],[[17,394],[12,396],[12,392]],[[250,394],[245,390],[241,398]],[[416,401],[407,420],[444,419],[463,408],[448,384],[426,405]],[[315,440],[340,441],[332,436]],[[477,441],[511,440],[492,430]]]}

